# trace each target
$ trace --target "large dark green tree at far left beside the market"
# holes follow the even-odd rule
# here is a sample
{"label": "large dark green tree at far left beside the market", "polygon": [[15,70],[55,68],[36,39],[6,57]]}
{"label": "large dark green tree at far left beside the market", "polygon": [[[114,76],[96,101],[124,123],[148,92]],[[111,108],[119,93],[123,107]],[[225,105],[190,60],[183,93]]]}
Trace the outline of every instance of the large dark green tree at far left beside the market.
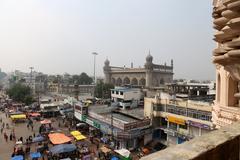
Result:
{"label": "large dark green tree at far left beside the market", "polygon": [[25,103],[29,105],[33,102],[33,96],[31,94],[31,88],[21,83],[12,85],[8,90],[7,94],[14,101]]}

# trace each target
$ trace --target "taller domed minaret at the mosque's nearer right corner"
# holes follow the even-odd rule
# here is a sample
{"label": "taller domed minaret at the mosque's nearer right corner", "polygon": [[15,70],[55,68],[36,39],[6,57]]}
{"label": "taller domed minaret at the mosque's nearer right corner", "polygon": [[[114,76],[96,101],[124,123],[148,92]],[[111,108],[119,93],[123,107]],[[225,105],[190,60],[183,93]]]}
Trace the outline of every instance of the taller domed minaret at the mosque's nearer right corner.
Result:
{"label": "taller domed minaret at the mosque's nearer right corner", "polygon": [[153,72],[153,57],[149,53],[146,57],[145,69],[146,69],[146,87],[152,86],[152,72]]}

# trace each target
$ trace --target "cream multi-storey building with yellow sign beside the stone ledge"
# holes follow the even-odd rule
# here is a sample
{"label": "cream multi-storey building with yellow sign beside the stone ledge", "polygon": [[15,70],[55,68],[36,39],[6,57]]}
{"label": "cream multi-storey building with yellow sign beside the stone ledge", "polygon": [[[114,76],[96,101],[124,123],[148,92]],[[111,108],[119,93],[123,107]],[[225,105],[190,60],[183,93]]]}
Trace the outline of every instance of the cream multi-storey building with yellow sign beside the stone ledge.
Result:
{"label": "cream multi-storey building with yellow sign beside the stone ledge", "polygon": [[161,94],[144,99],[144,116],[151,119],[153,140],[166,146],[201,136],[213,129],[209,102],[173,98]]}

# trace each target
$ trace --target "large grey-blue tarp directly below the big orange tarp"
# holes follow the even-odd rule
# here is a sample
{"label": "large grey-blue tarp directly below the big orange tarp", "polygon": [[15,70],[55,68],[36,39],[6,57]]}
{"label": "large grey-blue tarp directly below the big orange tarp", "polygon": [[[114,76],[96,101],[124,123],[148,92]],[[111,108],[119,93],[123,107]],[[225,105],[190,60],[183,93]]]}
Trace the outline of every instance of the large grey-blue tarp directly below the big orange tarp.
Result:
{"label": "large grey-blue tarp directly below the big orange tarp", "polygon": [[67,153],[76,150],[76,148],[74,144],[60,144],[50,148],[50,152],[52,154]]}

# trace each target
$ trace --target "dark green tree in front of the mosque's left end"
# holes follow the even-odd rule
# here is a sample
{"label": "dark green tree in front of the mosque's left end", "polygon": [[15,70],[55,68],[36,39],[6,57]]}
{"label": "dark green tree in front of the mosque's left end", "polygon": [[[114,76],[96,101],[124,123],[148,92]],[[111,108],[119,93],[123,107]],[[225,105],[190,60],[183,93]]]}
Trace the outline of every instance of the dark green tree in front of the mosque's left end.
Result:
{"label": "dark green tree in front of the mosque's left end", "polygon": [[96,85],[95,95],[98,98],[110,98],[111,89],[114,88],[113,84],[100,82]]}

